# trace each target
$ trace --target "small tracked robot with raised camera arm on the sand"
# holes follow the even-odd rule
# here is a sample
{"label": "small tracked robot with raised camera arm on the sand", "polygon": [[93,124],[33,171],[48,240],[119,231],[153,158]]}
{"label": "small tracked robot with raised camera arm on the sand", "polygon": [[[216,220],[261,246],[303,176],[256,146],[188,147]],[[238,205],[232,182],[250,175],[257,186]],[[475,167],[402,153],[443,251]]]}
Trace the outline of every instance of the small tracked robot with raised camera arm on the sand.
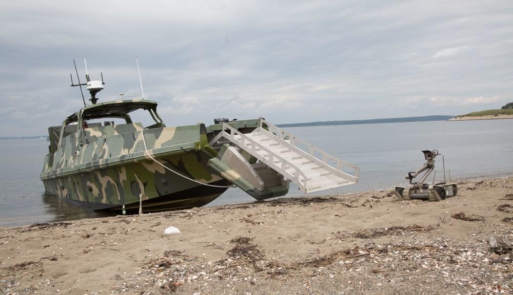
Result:
{"label": "small tracked robot with raised camera arm on the sand", "polygon": [[[435,158],[440,155],[440,153],[438,153],[438,150],[422,151],[422,153],[424,153],[426,163],[416,172],[408,172],[405,178],[410,181],[411,185],[408,187],[396,186],[396,196],[400,200],[421,199],[428,201],[441,201],[448,197],[456,196],[458,193],[456,183],[440,182],[435,184],[434,179],[433,184],[424,183],[429,174],[435,169]],[[424,171],[426,171],[426,173],[419,182],[412,182],[414,178]]]}

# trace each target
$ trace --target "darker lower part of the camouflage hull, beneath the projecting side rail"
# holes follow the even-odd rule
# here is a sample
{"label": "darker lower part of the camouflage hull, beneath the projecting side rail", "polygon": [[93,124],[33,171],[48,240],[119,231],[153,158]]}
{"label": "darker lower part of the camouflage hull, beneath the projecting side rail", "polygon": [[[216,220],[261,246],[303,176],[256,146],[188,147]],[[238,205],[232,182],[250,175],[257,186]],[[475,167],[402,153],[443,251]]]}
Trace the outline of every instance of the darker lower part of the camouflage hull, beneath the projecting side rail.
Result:
{"label": "darker lower part of the camouflage hull, beneath the projecting side rail", "polygon": [[[206,158],[207,155],[189,152],[160,158],[159,161],[182,175],[194,178],[185,167],[185,162],[191,157]],[[195,170],[198,180],[219,186],[230,185],[226,179],[211,175],[206,170],[203,174],[210,181],[205,181],[198,175],[199,168],[196,167]],[[213,201],[227,189],[186,180],[146,159],[133,164],[45,180],[43,183],[47,193],[93,210],[119,210],[121,205],[126,205],[128,210],[139,210],[139,195],[144,194],[145,212],[200,207]]]}

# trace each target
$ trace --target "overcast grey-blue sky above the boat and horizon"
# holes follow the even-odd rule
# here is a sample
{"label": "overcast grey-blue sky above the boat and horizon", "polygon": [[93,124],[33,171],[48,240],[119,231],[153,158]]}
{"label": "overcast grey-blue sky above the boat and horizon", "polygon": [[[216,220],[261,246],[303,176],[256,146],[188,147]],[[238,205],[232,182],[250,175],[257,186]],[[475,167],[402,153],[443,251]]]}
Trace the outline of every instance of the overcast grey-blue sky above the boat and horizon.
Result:
{"label": "overcast grey-blue sky above the boat and horizon", "polygon": [[[145,97],[168,126],[458,115],[513,101],[513,2],[2,1],[0,136]],[[75,74],[73,74],[75,75]],[[76,76],[75,82],[76,82]],[[87,98],[86,98],[87,99]]]}

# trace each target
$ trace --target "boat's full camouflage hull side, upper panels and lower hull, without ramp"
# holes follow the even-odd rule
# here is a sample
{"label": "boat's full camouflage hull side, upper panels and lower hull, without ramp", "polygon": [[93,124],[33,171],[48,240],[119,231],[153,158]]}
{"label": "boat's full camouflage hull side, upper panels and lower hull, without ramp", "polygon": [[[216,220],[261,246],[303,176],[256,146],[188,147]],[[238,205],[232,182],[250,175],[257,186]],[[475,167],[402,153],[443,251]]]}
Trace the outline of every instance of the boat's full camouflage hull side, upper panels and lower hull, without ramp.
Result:
{"label": "boat's full camouflage hull side, upper panels and lower hull, without ramp", "polygon": [[[147,156],[142,128],[125,125],[133,125],[133,130],[126,132],[124,126],[125,133],[119,134],[105,126],[64,137],[45,158],[41,179],[46,193],[94,210],[125,205],[129,211],[139,209],[139,196],[144,194],[143,209],[150,212],[203,206],[227,189],[176,173],[202,183],[231,184],[208,169],[215,152],[209,149],[204,125],[144,130],[148,152],[176,173]],[[81,138],[88,143],[81,145]]]}

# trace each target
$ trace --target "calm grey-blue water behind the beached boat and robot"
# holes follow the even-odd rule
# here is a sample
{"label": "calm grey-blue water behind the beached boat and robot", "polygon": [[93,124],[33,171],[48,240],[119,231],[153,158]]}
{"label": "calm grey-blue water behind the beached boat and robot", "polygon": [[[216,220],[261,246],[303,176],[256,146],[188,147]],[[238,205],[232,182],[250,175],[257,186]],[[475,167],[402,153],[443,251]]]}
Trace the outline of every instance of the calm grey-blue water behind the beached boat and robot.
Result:
{"label": "calm grey-blue water behind the beached boat and robot", "polygon": [[[287,128],[326,152],[360,166],[356,185],[313,193],[326,195],[387,188],[407,181],[404,175],[424,163],[421,150],[438,149],[452,178],[513,174],[513,120],[432,121]],[[55,196],[44,196],[39,179],[45,139],[0,140],[0,226],[98,216]],[[443,179],[442,157],[436,158]],[[448,174],[448,173],[447,173]],[[291,184],[287,196],[302,196]],[[230,188],[210,205],[252,202]]]}

